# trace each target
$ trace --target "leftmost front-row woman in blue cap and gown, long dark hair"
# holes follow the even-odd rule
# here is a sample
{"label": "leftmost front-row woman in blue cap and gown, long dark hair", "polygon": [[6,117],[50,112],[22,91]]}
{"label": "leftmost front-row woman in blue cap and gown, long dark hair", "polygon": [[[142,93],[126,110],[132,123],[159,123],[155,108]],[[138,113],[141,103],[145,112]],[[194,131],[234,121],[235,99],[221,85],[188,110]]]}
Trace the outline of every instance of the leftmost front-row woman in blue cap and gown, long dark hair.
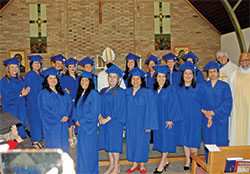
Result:
{"label": "leftmost front-row woman in blue cap and gown, long dark hair", "polygon": [[45,78],[38,96],[46,148],[69,152],[68,119],[72,112],[69,94],[60,86],[58,71],[50,67],[41,72]]}

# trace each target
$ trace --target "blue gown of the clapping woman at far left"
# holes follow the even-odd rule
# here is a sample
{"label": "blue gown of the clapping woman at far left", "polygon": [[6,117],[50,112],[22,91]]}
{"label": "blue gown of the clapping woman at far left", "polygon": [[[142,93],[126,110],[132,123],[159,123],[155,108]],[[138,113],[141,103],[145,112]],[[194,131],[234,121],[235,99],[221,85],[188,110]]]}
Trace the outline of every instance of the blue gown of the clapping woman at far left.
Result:
{"label": "blue gown of the clapping woman at far left", "polygon": [[17,127],[21,138],[27,137],[24,129],[24,127],[27,127],[25,97],[20,97],[22,89],[26,87],[22,80],[14,77],[11,77],[10,81],[7,77],[3,77],[0,81],[3,113],[10,112],[21,121],[22,126]]}

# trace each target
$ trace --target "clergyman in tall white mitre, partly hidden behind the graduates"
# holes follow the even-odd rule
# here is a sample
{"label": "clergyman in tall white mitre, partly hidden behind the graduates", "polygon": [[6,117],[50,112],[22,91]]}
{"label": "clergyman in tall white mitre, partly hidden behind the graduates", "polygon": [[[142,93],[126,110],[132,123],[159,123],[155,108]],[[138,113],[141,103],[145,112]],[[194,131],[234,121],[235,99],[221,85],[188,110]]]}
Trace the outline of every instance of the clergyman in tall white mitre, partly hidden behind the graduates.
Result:
{"label": "clergyman in tall white mitre, partly hidden behind the graduates", "polygon": [[[97,86],[98,86],[98,91],[100,92],[102,88],[108,87],[109,83],[108,83],[108,73],[106,73],[106,69],[109,68],[110,66],[112,66],[114,64],[114,60],[115,60],[115,53],[114,51],[107,47],[105,48],[105,50],[102,53],[102,59],[105,63],[105,67],[104,70],[99,72],[98,74],[98,78],[97,78]],[[122,79],[122,78],[121,78]],[[121,88],[126,89],[125,83],[122,79]]]}

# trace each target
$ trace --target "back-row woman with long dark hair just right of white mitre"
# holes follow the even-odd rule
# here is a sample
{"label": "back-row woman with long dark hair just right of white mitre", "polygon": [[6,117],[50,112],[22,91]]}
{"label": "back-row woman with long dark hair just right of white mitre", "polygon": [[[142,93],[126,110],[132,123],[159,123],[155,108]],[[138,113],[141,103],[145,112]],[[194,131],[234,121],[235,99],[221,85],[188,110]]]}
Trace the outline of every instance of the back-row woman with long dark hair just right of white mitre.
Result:
{"label": "back-row woman with long dark hair just right of white mitre", "polygon": [[129,53],[126,56],[126,70],[124,71],[124,76],[123,76],[123,80],[124,80],[126,87],[128,87],[128,79],[131,76],[129,71],[134,69],[135,67],[138,67],[139,59],[140,59],[139,56],[132,54],[132,53]]}

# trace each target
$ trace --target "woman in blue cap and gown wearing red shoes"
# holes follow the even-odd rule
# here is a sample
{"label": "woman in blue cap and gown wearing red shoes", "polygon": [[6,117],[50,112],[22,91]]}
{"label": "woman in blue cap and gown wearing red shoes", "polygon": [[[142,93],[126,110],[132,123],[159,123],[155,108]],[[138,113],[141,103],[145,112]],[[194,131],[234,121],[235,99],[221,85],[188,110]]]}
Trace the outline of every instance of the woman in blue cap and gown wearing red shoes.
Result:
{"label": "woman in blue cap and gown wearing red shoes", "polygon": [[140,170],[141,173],[146,173],[145,162],[148,161],[149,155],[150,131],[158,129],[157,106],[153,91],[145,88],[145,72],[134,68],[130,73],[130,88],[126,89],[126,143],[127,159],[132,161],[133,165],[126,172]]}

